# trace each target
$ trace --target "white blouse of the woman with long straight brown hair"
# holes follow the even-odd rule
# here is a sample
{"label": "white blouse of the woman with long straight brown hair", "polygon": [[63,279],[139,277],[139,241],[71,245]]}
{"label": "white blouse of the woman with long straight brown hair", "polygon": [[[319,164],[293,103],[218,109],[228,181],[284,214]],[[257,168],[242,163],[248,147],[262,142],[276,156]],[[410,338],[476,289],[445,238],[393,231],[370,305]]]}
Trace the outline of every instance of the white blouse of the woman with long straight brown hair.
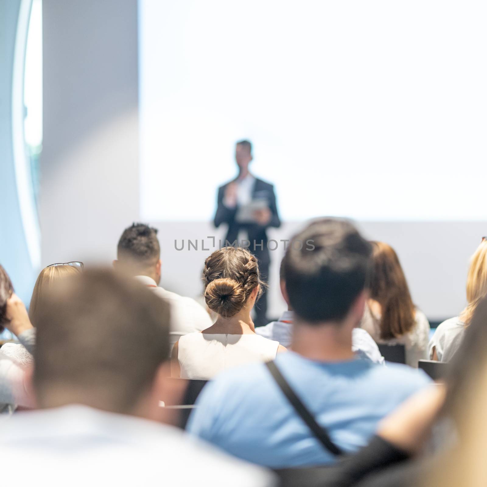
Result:
{"label": "white blouse of the woman with long straight brown hair", "polygon": [[389,345],[402,344],[406,349],[406,363],[411,367],[418,366],[418,360],[428,358],[428,342],[430,340],[430,322],[426,315],[416,308],[415,325],[412,330],[402,337],[382,340],[380,338],[380,315],[375,315],[369,306],[365,307],[365,313],[360,322],[360,327],[368,331],[376,343]]}

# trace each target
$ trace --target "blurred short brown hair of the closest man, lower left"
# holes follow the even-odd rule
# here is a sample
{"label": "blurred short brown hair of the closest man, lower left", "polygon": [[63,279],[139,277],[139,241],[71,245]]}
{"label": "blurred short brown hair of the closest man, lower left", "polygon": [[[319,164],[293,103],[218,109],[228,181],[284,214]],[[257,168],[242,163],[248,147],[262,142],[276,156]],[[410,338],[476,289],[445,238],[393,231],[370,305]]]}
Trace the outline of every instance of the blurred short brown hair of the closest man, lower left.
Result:
{"label": "blurred short brown hair of the closest man, lower left", "polygon": [[78,402],[130,414],[169,359],[169,305],[112,271],[64,279],[36,324],[39,407]]}

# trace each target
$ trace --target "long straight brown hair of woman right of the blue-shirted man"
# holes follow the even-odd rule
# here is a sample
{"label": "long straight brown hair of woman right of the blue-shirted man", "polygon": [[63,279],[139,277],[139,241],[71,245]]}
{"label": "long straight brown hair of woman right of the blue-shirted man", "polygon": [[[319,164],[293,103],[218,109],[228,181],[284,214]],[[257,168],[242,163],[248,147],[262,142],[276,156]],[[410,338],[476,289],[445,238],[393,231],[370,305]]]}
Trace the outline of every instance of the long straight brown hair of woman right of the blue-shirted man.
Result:
{"label": "long straight brown hair of woman right of the blue-shirted man", "polygon": [[372,242],[370,297],[381,307],[380,338],[388,340],[410,332],[415,323],[414,304],[394,249]]}

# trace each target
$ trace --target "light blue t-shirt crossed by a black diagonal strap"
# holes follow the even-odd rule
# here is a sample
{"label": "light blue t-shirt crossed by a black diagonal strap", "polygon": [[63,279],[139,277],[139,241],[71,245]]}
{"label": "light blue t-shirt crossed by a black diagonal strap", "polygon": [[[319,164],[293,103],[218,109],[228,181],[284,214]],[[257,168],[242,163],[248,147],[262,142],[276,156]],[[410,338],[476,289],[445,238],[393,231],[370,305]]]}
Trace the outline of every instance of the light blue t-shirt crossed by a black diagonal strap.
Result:
{"label": "light blue t-shirt crossed by a black diagonal strap", "polygon": [[[367,360],[317,362],[294,352],[276,364],[294,392],[344,451],[367,444],[377,423],[431,383],[423,371]],[[187,430],[223,450],[270,468],[335,461],[294,411],[263,364],[224,372],[197,400]]]}

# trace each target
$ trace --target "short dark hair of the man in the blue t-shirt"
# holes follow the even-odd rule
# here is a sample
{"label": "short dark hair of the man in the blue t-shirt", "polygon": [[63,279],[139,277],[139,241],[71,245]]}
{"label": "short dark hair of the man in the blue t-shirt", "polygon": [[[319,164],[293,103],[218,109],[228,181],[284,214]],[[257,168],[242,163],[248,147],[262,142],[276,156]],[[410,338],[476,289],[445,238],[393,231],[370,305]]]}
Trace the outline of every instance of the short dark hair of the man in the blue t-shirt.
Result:
{"label": "short dark hair of the man in the blue t-shirt", "polygon": [[310,323],[341,321],[363,291],[371,244],[350,222],[324,218],[291,240],[283,278],[296,314]]}

